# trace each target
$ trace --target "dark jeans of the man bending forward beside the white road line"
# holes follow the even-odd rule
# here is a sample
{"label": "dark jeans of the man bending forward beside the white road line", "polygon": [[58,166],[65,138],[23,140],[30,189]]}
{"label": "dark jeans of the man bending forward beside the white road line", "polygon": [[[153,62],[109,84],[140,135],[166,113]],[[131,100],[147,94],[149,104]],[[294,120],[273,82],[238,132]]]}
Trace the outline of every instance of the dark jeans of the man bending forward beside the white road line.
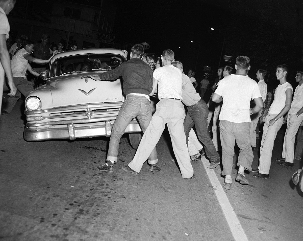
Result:
{"label": "dark jeans of the man bending forward beside the white road line", "polygon": [[195,125],[198,139],[202,142],[205,153],[210,161],[219,161],[220,156],[207,131],[208,107],[204,100],[199,100],[196,104],[187,107],[187,114],[184,119],[184,132],[186,144],[188,145],[188,133]]}

